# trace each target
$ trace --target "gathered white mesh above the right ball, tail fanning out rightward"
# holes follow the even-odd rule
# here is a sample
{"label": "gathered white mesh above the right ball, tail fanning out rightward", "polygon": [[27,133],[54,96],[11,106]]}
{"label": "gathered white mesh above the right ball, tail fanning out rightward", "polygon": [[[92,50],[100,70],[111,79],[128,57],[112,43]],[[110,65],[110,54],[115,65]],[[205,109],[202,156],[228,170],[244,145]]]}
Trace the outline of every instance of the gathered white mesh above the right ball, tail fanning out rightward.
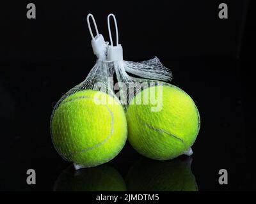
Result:
{"label": "gathered white mesh above the right ball, tail fanning out rightward", "polygon": [[[116,96],[125,109],[131,104],[134,96],[143,89],[156,85],[169,85],[167,82],[172,80],[172,72],[164,67],[157,57],[142,62],[109,62],[109,66],[115,69],[119,89]],[[136,77],[131,77],[128,73]]]}

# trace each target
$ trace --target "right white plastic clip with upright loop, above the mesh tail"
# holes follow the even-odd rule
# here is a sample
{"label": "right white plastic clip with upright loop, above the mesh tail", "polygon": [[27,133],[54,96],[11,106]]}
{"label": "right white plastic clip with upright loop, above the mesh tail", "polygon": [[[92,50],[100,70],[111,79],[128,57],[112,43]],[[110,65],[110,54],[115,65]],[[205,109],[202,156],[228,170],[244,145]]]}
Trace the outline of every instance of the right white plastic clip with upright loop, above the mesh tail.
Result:
{"label": "right white plastic clip with upright loop, above the mesh tail", "polygon": [[[112,40],[112,34],[110,29],[110,17],[113,17],[113,20],[115,22],[115,29],[116,29],[116,46],[113,46],[113,40]],[[108,61],[122,61],[123,60],[123,48],[122,45],[118,44],[118,27],[116,23],[116,17],[113,15],[113,13],[110,13],[108,15],[108,33],[109,33],[109,40],[110,40],[110,46],[108,47]]]}

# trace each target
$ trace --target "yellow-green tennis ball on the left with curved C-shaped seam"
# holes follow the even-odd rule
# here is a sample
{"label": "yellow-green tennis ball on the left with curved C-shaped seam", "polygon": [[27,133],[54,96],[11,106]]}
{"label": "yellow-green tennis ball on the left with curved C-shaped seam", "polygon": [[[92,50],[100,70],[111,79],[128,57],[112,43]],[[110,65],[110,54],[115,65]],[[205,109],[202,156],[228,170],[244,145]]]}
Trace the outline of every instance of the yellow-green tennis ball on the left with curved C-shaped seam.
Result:
{"label": "yellow-green tennis ball on the left with curved C-shaped seam", "polygon": [[116,99],[100,91],[79,91],[52,113],[52,142],[58,153],[82,167],[113,159],[124,147],[127,122]]}

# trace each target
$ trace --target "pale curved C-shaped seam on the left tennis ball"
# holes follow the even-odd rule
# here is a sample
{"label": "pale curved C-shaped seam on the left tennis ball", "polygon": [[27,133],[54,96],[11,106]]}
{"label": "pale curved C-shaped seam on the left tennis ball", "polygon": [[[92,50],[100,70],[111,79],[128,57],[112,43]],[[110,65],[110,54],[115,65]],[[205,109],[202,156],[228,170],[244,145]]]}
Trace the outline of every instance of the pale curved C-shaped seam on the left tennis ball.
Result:
{"label": "pale curved C-shaped seam on the left tennis ball", "polygon": [[[68,100],[68,101],[65,101],[63,104],[69,103],[69,102],[74,101],[74,100],[76,100],[76,99],[83,99],[83,98],[92,99],[92,97],[90,97],[90,96],[80,96],[80,97],[73,98],[73,99],[70,99],[70,100]],[[108,111],[109,111],[109,113],[110,113],[110,115],[111,115],[111,133],[110,133],[110,135],[109,135],[105,140],[103,140],[103,141],[100,142],[100,143],[97,143],[97,144],[94,145],[93,147],[89,147],[89,148],[86,148],[86,149],[83,149],[83,150],[79,150],[79,151],[69,152],[69,153],[68,153],[69,156],[72,156],[72,155],[74,155],[74,154],[79,154],[79,153],[81,153],[81,152],[86,152],[86,151],[88,151],[88,150],[92,150],[92,149],[95,149],[95,148],[97,148],[97,147],[100,147],[100,146],[103,145],[104,143],[108,142],[108,140],[109,140],[109,138],[111,137],[111,135],[113,135],[113,131],[114,131],[114,129],[113,129],[113,122],[114,122],[113,112],[111,112],[111,110],[110,110],[110,108],[109,108],[108,105],[104,104],[104,101],[100,100],[99,98],[95,98],[95,97],[93,97],[93,99],[97,99],[98,101],[102,102],[103,105],[106,106],[106,108],[108,109]],[[62,104],[62,105],[63,105],[63,104]]]}

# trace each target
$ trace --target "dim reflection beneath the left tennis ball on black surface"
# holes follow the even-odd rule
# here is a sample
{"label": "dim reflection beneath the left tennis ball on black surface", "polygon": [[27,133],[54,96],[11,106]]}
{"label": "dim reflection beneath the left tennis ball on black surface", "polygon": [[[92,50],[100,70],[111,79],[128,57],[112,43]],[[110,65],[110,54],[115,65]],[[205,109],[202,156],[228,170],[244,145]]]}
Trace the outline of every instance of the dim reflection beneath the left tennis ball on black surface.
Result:
{"label": "dim reflection beneath the left tennis ball on black surface", "polygon": [[126,191],[124,179],[109,164],[77,171],[71,167],[58,177],[54,191]]}

